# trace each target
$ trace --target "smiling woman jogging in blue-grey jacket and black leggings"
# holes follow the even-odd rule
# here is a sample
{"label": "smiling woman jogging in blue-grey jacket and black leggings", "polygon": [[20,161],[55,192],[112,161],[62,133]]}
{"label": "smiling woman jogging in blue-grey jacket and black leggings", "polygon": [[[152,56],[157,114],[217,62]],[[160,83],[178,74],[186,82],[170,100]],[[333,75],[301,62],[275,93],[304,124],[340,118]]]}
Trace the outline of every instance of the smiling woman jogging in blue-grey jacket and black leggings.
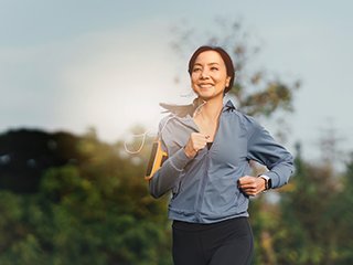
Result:
{"label": "smiling woman jogging in blue-grey jacket and black leggings", "polygon": [[[288,182],[292,156],[232,102],[223,104],[234,82],[234,66],[221,47],[201,46],[189,62],[192,105],[169,108],[159,137],[168,159],[150,179],[159,198],[172,191],[175,265],[250,264],[253,233],[249,197]],[[266,176],[249,176],[249,161]]]}

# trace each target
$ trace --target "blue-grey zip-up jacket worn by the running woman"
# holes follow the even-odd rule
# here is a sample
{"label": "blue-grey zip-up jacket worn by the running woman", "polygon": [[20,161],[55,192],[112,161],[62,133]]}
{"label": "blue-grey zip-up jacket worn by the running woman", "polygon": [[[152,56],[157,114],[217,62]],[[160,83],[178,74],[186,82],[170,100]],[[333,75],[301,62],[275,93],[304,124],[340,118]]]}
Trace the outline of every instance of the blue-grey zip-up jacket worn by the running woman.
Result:
{"label": "blue-grey zip-up jacket worn by the running woman", "polygon": [[159,198],[172,191],[169,218],[192,223],[213,223],[248,216],[249,198],[237,180],[250,174],[249,160],[265,165],[272,188],[286,184],[293,171],[292,156],[254,118],[227,102],[208,150],[186,157],[183,147],[197,132],[191,115],[170,115],[161,120],[159,136],[169,158],[150,180],[150,193]]}

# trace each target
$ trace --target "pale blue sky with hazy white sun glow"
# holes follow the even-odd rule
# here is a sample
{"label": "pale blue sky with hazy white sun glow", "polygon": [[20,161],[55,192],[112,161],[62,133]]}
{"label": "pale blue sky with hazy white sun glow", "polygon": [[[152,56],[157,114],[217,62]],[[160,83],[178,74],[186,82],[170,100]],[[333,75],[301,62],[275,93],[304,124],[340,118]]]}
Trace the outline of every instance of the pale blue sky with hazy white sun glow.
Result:
{"label": "pale blue sky with hazy white sun glow", "polygon": [[320,159],[320,139],[333,129],[350,152],[352,10],[349,0],[0,0],[0,132],[94,127],[114,142],[135,125],[156,131],[160,102],[192,100],[186,63],[204,44],[175,54],[171,29],[212,32],[222,18],[256,36],[255,67],[301,81],[287,148],[300,141],[308,159]]}

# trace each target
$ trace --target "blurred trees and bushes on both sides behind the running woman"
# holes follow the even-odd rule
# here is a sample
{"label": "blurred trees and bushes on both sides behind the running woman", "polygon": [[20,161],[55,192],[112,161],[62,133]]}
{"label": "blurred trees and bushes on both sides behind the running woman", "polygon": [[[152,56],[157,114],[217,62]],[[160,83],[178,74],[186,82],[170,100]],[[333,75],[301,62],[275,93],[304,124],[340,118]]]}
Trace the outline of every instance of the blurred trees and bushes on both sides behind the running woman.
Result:
{"label": "blurred trees and bushes on both sides behind the running woman", "polygon": [[[143,180],[151,140],[127,156],[94,130],[2,134],[0,264],[172,264],[169,197],[152,199]],[[353,157],[339,173],[298,145],[296,168],[252,200],[254,264],[352,264]]]}

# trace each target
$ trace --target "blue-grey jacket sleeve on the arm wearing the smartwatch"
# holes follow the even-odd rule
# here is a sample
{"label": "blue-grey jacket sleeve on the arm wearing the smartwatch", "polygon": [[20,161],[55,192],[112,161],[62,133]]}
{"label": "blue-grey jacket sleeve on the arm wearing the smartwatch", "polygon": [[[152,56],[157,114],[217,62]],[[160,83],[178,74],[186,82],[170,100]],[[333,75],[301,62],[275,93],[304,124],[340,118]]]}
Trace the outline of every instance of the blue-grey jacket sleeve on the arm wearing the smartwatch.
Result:
{"label": "blue-grey jacket sleeve on the arm wearing the smartwatch", "polygon": [[248,159],[266,166],[269,171],[265,174],[272,181],[272,188],[287,184],[292,174],[293,158],[285,147],[275,141],[270,134],[257,123],[248,139]]}

